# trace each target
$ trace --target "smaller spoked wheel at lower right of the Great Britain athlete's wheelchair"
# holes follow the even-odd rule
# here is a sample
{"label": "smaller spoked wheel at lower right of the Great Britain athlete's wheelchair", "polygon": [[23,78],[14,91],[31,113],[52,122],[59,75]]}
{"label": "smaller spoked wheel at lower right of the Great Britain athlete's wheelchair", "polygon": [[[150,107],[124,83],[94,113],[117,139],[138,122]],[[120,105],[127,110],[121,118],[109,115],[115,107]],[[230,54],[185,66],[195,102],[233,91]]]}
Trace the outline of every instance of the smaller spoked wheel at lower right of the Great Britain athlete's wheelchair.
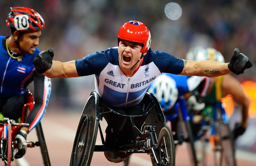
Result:
{"label": "smaller spoked wheel at lower right of the Great Britain athlete's wheelchair", "polygon": [[[161,129],[157,141],[156,157],[161,165],[175,166],[175,145],[173,134],[169,127],[165,126]],[[157,166],[154,157],[151,155],[153,166]]]}

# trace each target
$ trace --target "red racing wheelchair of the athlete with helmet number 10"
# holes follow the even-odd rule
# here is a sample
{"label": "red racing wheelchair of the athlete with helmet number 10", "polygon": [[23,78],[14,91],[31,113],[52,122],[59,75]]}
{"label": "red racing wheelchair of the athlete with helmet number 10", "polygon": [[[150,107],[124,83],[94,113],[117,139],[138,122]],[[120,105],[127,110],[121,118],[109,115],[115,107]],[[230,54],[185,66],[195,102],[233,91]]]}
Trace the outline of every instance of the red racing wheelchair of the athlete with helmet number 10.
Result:
{"label": "red racing wheelchair of the athlete with helmet number 10", "polygon": [[[13,120],[9,118],[4,118],[4,120],[0,120],[0,158],[4,161],[5,166],[10,166],[11,162],[14,161],[14,149],[17,148],[15,136],[17,135],[17,132],[21,129],[22,126],[29,125],[24,122],[27,115],[33,108],[34,98],[32,93],[28,91],[28,103],[24,104],[22,108],[20,122],[18,120]],[[48,155],[41,122],[39,122],[35,129],[37,132],[38,141],[27,141],[27,147],[32,148],[35,146],[40,146],[43,163],[45,166],[50,166],[50,158]]]}

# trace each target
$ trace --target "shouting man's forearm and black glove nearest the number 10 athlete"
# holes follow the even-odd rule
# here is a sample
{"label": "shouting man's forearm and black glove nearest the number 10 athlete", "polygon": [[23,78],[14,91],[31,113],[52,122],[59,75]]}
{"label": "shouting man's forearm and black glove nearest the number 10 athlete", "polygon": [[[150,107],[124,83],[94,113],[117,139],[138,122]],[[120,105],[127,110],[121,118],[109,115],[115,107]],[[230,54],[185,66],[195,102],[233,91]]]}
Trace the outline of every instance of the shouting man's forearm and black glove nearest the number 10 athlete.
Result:
{"label": "shouting man's forearm and black glove nearest the number 10 athlete", "polygon": [[49,48],[48,51],[39,52],[33,61],[37,72],[42,73],[48,78],[78,77],[74,60],[62,63],[53,61],[53,56],[53,48]]}

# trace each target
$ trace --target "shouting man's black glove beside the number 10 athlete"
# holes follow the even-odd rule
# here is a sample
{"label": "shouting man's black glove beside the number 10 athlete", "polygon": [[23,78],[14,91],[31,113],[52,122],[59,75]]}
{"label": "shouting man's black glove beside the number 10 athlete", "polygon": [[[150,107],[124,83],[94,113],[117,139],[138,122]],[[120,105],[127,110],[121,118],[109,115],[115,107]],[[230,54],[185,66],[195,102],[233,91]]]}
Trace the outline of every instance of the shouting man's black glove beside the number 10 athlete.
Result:
{"label": "shouting man's black glove beside the number 10 athlete", "polygon": [[53,65],[53,56],[54,50],[53,48],[49,48],[49,50],[39,52],[33,61],[35,65],[36,71],[40,74],[46,72]]}

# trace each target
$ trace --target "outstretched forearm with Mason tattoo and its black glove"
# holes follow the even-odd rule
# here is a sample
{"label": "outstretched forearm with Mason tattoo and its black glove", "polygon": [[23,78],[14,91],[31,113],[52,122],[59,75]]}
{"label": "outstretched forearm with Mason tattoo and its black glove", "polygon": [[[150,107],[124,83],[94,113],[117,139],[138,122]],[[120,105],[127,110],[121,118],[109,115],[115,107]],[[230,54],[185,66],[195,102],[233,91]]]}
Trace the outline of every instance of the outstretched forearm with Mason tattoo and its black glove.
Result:
{"label": "outstretched forearm with Mason tattoo and its black glove", "polygon": [[212,60],[189,61],[184,60],[184,68],[181,75],[216,77],[230,73],[242,74],[245,69],[252,67],[247,56],[235,48],[230,63],[221,63]]}

